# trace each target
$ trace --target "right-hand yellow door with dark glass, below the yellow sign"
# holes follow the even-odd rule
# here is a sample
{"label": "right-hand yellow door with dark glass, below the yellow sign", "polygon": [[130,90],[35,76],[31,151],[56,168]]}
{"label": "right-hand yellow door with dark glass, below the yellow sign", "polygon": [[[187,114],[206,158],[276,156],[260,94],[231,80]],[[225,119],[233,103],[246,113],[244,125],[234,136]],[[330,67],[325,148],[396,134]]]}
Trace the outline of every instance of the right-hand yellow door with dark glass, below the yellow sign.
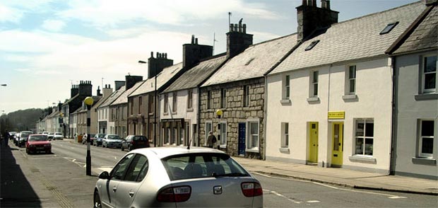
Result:
{"label": "right-hand yellow door with dark glass, below the yellow sign", "polygon": [[342,152],[343,152],[343,122],[333,122],[331,129],[332,154],[331,164],[334,167],[342,166]]}

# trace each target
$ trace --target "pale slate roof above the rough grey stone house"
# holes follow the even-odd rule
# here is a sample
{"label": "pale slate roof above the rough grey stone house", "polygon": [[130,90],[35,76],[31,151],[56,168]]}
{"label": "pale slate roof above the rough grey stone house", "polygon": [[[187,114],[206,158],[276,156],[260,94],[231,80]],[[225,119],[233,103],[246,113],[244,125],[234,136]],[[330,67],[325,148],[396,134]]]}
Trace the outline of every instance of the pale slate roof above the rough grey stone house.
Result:
{"label": "pale slate roof above the rough grey stone house", "polygon": [[263,77],[296,44],[295,33],[251,45],[220,67],[202,86]]}

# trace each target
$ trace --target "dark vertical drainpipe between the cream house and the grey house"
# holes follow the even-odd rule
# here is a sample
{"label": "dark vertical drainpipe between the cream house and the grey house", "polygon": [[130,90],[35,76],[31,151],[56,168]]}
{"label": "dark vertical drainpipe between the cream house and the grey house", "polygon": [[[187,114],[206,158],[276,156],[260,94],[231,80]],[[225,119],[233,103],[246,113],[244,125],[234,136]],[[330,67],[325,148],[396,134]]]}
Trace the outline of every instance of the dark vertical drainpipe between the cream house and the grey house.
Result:
{"label": "dark vertical drainpipe between the cream house and the grey house", "polygon": [[391,151],[389,154],[389,175],[396,174],[396,57],[391,57],[392,100],[391,100]]}

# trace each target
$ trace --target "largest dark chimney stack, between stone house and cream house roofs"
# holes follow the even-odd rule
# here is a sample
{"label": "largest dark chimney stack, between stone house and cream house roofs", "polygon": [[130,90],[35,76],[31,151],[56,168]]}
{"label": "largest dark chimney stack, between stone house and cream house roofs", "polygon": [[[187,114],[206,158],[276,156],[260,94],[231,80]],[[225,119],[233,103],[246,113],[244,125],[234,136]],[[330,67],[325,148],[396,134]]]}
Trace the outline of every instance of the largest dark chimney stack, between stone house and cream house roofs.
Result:
{"label": "largest dark chimney stack, between stone house and cream house roofs", "polygon": [[298,41],[306,39],[315,30],[338,23],[338,13],[331,10],[329,0],[321,0],[321,8],[316,6],[316,0],[303,0],[297,7]]}

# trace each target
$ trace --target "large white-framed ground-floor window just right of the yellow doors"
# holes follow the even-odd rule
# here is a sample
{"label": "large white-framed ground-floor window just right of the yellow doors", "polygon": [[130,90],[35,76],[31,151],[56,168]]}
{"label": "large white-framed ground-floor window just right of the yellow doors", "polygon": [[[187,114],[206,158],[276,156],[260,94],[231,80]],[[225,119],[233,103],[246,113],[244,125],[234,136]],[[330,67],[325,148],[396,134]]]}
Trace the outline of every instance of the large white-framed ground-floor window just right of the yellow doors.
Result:
{"label": "large white-framed ground-floor window just right of the yellow doors", "polygon": [[[358,133],[360,133],[358,131],[358,126],[360,125],[360,123],[362,123],[363,125],[363,129],[362,129],[362,136],[358,135]],[[354,122],[354,145],[355,145],[355,149],[354,149],[354,153],[355,156],[368,156],[368,157],[372,157],[374,155],[374,118],[355,118],[355,122]],[[372,136],[367,135],[367,124],[372,124]],[[362,152],[358,152],[357,146],[358,146],[358,139],[362,139],[362,144],[360,146],[360,151]],[[372,139],[372,144],[371,144],[371,154],[367,154],[367,140]],[[368,144],[369,145],[369,144]]]}

